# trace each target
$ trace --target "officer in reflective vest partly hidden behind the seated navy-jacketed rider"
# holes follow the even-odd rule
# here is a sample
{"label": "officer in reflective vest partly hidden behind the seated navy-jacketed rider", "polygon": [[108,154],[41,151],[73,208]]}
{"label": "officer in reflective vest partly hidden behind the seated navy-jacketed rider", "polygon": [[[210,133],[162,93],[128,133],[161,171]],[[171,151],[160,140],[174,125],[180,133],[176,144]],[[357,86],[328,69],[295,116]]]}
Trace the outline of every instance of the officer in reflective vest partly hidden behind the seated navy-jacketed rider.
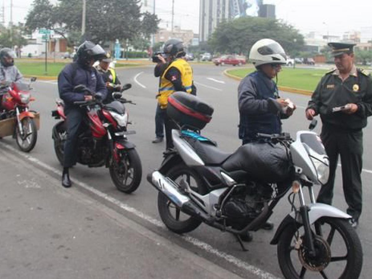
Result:
{"label": "officer in reflective vest partly hidden behind the seated navy-jacketed rider", "polygon": [[114,99],[112,97],[113,92],[117,92],[121,90],[121,82],[116,74],[114,68],[110,67],[110,63],[112,62],[111,55],[109,53],[106,54],[104,59],[99,61],[99,64],[95,66],[98,73],[101,74],[103,81],[107,87],[107,97],[104,103],[111,103]]}

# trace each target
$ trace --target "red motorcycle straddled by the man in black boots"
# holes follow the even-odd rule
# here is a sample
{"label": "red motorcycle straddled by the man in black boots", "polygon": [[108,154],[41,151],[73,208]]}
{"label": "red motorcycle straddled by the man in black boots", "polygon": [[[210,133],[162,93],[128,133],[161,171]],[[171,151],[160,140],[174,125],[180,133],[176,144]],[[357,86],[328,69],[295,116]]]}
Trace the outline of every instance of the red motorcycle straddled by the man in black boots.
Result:
{"label": "red motorcycle straddled by the man in black boots", "polygon": [[[126,84],[121,92],[130,87],[131,84]],[[78,85],[74,91],[93,96],[91,101],[74,102],[87,113],[78,135],[77,162],[89,167],[108,167],[112,182],[118,190],[134,192],[141,182],[142,165],[135,145],[127,138],[135,131],[127,130],[127,125],[131,123],[128,122],[124,103],[132,102],[122,98],[121,92],[113,93],[113,102],[103,104],[86,86]],[[63,164],[67,129],[64,103],[61,100],[57,100],[57,110],[52,111],[52,116],[62,119],[53,127],[52,137],[58,161]]]}

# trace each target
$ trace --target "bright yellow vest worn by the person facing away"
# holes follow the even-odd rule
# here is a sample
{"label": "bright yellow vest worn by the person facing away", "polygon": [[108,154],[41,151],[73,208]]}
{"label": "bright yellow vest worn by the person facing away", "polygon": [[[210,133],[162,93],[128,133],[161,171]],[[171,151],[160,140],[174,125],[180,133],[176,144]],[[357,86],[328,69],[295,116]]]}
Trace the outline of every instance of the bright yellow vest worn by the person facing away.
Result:
{"label": "bright yellow vest worn by the person facing away", "polygon": [[167,107],[169,95],[176,91],[173,83],[165,78],[168,70],[171,67],[175,67],[180,71],[182,86],[185,87],[186,92],[191,93],[192,91],[193,73],[190,64],[181,58],[174,60],[169,64],[168,68],[166,68],[160,80],[158,103],[162,109]]}

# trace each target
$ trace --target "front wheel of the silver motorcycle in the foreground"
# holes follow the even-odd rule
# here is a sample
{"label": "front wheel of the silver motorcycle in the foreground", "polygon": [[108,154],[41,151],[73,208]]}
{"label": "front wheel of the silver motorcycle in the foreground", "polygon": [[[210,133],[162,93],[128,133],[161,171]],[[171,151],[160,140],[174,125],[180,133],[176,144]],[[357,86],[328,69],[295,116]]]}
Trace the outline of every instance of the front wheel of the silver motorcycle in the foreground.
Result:
{"label": "front wheel of the silver motorcycle in the foreground", "polygon": [[[319,227],[317,228],[316,225]],[[284,277],[298,279],[307,278],[308,275],[311,278],[318,275],[319,278],[359,278],[363,263],[362,245],[348,220],[322,217],[315,222],[313,227],[315,227],[315,230],[312,230],[314,246],[317,252],[315,257],[307,255],[305,241],[302,241],[303,234],[302,243],[298,242],[298,236],[301,235],[301,230],[303,231],[302,225],[289,225],[283,230],[277,251],[279,266]],[[315,231],[317,231],[316,234]],[[297,234],[297,232],[300,233]],[[334,241],[335,236],[336,241]],[[346,253],[343,250],[346,250]],[[292,252],[294,254],[291,255]],[[292,259],[296,260],[295,264]],[[338,262],[342,263],[335,264]],[[337,267],[340,270],[336,270]]]}

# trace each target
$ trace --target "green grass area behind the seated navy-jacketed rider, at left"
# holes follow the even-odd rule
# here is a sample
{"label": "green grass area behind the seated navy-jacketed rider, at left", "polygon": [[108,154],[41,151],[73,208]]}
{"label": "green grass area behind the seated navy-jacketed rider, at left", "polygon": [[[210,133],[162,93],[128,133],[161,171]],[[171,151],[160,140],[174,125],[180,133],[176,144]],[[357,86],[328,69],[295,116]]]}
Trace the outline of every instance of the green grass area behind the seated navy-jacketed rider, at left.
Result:
{"label": "green grass area behind the seated navy-jacketed rider, at left", "polygon": [[[16,66],[19,71],[25,76],[45,76],[45,77],[56,77],[61,72],[61,70],[68,63],[64,62],[48,62],[47,63],[47,73],[45,73],[45,62],[21,62],[16,61]],[[116,63],[115,68],[121,67],[133,67],[137,64],[122,64]]]}

